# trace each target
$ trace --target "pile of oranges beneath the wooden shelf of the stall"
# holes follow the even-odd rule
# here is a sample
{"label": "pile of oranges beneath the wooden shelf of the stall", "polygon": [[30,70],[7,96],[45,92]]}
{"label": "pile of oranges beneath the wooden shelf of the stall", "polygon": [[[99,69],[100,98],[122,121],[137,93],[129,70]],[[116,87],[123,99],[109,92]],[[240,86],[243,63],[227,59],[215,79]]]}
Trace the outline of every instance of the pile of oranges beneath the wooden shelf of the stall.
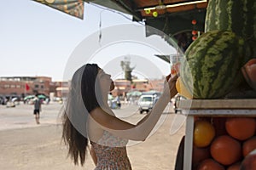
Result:
{"label": "pile of oranges beneath the wooden shelf of the stall", "polygon": [[236,170],[253,150],[254,117],[196,117],[192,169]]}

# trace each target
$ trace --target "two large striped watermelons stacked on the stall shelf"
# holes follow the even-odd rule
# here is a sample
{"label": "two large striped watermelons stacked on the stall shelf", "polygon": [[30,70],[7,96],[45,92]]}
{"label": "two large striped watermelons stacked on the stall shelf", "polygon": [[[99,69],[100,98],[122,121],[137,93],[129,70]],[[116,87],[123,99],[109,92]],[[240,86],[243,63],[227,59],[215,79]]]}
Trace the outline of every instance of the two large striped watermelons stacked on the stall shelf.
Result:
{"label": "two large striped watermelons stacked on the stall shelf", "polygon": [[256,1],[209,0],[205,23],[185,53],[181,79],[194,99],[221,99],[244,81],[241,67],[256,58]]}

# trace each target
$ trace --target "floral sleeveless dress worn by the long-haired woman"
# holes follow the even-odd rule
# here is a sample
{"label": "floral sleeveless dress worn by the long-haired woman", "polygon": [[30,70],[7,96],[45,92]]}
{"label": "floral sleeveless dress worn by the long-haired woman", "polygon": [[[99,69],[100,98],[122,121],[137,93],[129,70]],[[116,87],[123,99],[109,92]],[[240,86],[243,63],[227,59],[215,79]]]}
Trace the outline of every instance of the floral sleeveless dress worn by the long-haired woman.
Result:
{"label": "floral sleeveless dress worn by the long-haired woman", "polygon": [[91,141],[97,157],[95,170],[131,170],[125,146],[127,142],[127,139],[115,137],[108,131],[104,131],[97,143]]}

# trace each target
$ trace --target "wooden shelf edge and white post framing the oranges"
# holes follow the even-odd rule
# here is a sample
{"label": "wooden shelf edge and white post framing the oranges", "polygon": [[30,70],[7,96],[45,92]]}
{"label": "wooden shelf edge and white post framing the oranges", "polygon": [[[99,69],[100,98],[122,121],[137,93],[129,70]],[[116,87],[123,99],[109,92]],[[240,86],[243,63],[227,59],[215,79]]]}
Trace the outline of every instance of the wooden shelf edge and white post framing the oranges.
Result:
{"label": "wooden shelf edge and white post framing the oranges", "polygon": [[184,99],[178,107],[187,116],[183,170],[192,169],[195,117],[256,117],[256,99]]}

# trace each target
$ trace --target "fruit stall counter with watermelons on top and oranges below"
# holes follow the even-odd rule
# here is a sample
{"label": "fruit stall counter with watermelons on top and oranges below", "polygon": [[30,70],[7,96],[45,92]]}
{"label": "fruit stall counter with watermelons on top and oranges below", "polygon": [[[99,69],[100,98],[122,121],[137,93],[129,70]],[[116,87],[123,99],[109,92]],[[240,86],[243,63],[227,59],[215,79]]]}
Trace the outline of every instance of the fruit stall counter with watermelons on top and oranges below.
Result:
{"label": "fruit stall counter with watermelons on top and oranges below", "polygon": [[254,1],[208,1],[205,32],[179,71],[187,120],[177,169],[255,168],[255,11]]}

